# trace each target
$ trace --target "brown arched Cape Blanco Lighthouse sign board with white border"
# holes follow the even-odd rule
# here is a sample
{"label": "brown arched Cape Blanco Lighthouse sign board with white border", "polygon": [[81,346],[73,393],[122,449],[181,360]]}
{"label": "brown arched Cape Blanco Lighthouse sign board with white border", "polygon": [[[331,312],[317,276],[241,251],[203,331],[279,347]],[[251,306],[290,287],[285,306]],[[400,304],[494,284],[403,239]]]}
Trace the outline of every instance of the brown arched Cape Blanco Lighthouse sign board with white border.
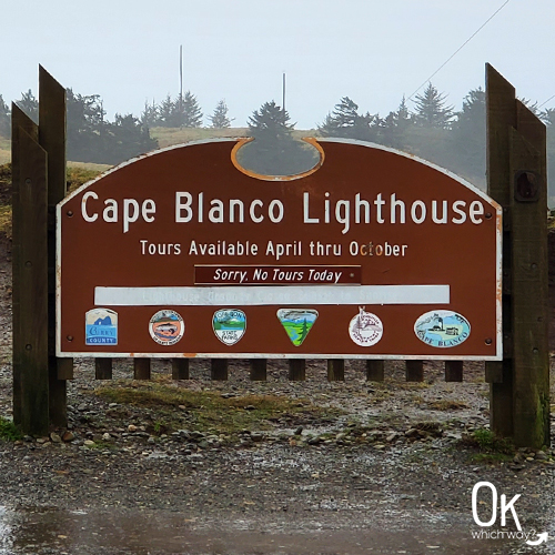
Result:
{"label": "brown arched Cape Blanco Lighthouse sign board with white border", "polygon": [[154,152],[58,205],[60,356],[500,360],[501,208],[382,147],[243,171]]}

